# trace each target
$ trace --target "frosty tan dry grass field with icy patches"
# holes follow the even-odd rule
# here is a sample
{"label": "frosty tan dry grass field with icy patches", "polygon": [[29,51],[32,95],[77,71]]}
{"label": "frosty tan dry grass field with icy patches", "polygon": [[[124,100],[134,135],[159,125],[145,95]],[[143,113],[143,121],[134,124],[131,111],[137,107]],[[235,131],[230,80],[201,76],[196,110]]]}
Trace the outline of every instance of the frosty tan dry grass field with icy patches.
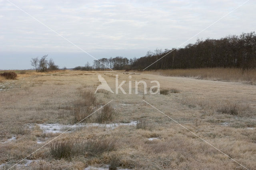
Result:
{"label": "frosty tan dry grass field with icy patches", "polygon": [[[98,74],[113,91],[116,74],[126,93],[132,81],[132,94],[94,94]],[[67,70],[1,79],[0,169],[256,169],[256,86],[163,75]],[[161,94],[140,85],[136,95],[136,80],[159,81]]]}

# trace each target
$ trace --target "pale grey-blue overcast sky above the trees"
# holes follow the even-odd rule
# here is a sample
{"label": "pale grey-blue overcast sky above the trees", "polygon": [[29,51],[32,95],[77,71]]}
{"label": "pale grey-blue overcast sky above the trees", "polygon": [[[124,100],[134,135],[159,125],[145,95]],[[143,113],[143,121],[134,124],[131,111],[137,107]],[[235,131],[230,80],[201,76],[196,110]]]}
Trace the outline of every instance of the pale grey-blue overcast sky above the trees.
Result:
{"label": "pale grey-blue overcast sky above the trees", "polygon": [[[10,2],[99,59],[177,47],[246,0]],[[255,9],[256,1],[250,0],[188,43],[255,31]],[[52,30],[0,0],[0,69],[30,69],[30,59],[45,54],[60,68],[92,63],[92,57]]]}

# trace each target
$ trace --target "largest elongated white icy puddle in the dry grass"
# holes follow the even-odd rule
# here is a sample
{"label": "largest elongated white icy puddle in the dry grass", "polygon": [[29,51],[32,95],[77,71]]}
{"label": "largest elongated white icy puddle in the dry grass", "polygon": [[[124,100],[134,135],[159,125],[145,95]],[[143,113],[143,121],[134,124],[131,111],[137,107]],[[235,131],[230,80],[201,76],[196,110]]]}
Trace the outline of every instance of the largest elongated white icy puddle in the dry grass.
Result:
{"label": "largest elongated white icy puddle in the dry grass", "polygon": [[114,129],[118,126],[135,126],[137,121],[131,121],[130,123],[110,123],[110,124],[100,124],[100,123],[86,123],[78,125],[62,125],[62,124],[38,124],[38,126],[46,133],[62,133],[70,132],[76,128],[80,127],[102,127]]}

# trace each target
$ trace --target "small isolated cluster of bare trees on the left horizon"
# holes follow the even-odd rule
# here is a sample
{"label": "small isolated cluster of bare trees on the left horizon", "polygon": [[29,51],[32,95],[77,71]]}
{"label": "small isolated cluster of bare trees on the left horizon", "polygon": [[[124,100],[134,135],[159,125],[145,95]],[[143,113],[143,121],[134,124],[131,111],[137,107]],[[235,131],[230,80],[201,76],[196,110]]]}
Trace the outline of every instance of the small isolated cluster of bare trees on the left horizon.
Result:
{"label": "small isolated cluster of bare trees on the left horizon", "polygon": [[32,58],[30,63],[36,69],[36,71],[46,72],[52,70],[58,70],[59,66],[55,65],[52,58],[47,59],[48,55],[42,56],[42,58]]}

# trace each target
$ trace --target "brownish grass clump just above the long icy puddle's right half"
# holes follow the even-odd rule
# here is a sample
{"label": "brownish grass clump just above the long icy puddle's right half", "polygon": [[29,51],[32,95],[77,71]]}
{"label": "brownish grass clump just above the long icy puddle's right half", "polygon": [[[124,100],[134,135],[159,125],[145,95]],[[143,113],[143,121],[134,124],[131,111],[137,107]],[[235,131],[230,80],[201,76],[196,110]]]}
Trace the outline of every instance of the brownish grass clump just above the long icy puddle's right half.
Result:
{"label": "brownish grass clump just above the long icy puddle's right half", "polygon": [[111,105],[106,105],[103,107],[102,110],[100,110],[98,113],[96,113],[96,122],[97,123],[107,123],[114,119],[115,115],[114,108]]}

